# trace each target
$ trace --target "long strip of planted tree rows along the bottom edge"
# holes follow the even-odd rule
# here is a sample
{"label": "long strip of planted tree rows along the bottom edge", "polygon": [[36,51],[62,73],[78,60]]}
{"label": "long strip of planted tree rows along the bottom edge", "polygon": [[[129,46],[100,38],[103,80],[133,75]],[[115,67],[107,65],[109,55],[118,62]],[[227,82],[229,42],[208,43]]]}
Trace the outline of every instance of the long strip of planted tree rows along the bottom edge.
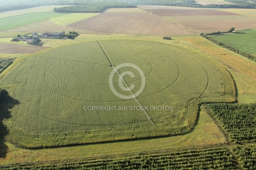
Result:
{"label": "long strip of planted tree rows along the bottom edge", "polygon": [[80,161],[52,165],[13,164],[0,169],[12,170],[235,170],[230,151],[225,147],[192,149],[166,154]]}

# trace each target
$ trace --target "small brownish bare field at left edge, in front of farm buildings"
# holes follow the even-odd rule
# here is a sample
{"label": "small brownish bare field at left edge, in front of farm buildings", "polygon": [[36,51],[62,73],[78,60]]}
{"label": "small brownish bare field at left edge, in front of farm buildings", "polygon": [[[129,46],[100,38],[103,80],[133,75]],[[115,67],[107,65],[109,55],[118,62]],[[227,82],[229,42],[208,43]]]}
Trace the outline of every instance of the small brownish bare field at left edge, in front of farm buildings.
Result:
{"label": "small brownish bare field at left edge, in front of farm buildings", "polygon": [[1,54],[26,54],[26,53],[35,53],[47,49],[47,47],[40,47],[35,45],[19,45],[11,43],[0,43]]}

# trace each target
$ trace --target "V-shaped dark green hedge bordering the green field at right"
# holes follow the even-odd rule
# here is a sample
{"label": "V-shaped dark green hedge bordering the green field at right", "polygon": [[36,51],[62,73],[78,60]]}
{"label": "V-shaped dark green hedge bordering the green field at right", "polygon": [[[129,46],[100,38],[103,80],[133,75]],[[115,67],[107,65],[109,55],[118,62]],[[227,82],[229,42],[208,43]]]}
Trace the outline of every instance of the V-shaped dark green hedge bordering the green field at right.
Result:
{"label": "V-shaped dark green hedge bordering the green field at right", "polygon": [[[230,31],[227,31],[227,32],[230,32]],[[241,51],[241,50],[239,50],[238,48],[232,47],[231,45],[224,44],[223,42],[218,41],[218,40],[215,40],[215,39],[213,39],[213,38],[210,37],[210,36],[207,36],[207,35],[221,34],[221,33],[226,33],[226,32],[220,32],[220,31],[218,31],[218,32],[213,32],[213,33],[209,33],[209,34],[201,33],[201,34],[199,34],[199,35],[200,35],[201,37],[204,37],[204,38],[206,38],[207,40],[209,40],[209,41],[211,41],[211,42],[217,44],[217,45],[220,45],[221,47],[227,48],[227,49],[230,50],[230,51],[233,51],[233,52],[235,52],[235,53],[237,53],[237,54],[240,54],[241,56],[244,56],[244,57],[246,57],[246,58],[248,58],[248,59],[251,59],[251,60],[253,60],[253,61],[256,62],[256,57],[254,57],[253,55],[251,55],[251,54],[249,54],[249,53],[246,53],[246,52],[244,52],[244,51]]]}

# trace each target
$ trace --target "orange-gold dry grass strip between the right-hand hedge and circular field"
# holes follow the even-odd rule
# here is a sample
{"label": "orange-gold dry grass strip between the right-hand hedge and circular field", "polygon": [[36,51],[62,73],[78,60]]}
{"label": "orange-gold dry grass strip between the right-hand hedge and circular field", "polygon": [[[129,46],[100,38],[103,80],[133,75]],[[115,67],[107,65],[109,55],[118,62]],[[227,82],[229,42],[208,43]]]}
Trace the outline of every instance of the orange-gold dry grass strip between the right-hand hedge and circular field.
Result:
{"label": "orange-gold dry grass strip between the right-hand hedge and circular field", "polygon": [[239,54],[234,54],[224,48],[213,45],[207,40],[201,37],[185,38],[191,44],[201,48],[209,54],[214,55],[216,58],[228,63],[233,68],[241,71],[242,73],[248,75],[249,77],[256,80],[256,63],[240,56]]}

